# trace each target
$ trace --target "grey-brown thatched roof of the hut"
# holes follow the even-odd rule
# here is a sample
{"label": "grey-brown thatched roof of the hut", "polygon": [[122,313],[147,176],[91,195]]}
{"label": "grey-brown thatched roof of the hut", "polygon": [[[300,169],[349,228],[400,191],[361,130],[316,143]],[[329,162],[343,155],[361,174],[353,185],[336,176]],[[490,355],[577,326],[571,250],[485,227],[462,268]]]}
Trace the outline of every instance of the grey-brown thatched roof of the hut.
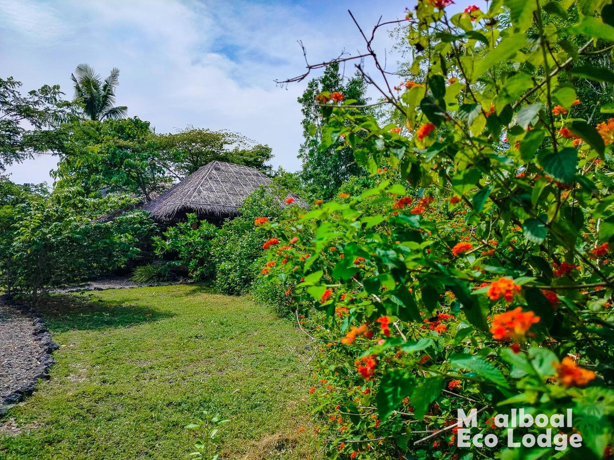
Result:
{"label": "grey-brown thatched roof of the hut", "polygon": [[192,212],[199,218],[236,217],[247,195],[270,183],[270,177],[251,167],[212,161],[142,209],[151,212],[153,220],[162,222],[182,218],[185,213]]}

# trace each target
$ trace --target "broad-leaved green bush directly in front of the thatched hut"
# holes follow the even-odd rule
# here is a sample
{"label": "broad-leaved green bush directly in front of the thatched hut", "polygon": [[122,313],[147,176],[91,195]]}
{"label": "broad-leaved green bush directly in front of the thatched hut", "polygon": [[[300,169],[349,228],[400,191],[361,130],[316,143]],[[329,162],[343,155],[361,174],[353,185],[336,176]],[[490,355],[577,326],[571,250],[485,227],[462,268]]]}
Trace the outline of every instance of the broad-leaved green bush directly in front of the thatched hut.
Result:
{"label": "broad-leaved green bush directly in front of the thatched hut", "polygon": [[170,227],[163,237],[154,237],[153,248],[158,255],[175,255],[195,280],[207,280],[215,274],[212,240],[216,235],[216,226],[198,221],[196,214],[188,214],[186,222]]}

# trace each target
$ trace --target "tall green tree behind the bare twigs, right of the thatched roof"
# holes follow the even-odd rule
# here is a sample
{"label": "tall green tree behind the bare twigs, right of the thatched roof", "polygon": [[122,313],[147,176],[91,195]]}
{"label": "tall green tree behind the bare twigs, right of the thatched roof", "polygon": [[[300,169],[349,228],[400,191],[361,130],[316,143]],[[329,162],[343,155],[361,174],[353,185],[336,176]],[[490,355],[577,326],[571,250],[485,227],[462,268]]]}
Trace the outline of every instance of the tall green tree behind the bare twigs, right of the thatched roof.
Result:
{"label": "tall green tree behind the bare twigs, right of the thatched roof", "polygon": [[[364,170],[354,161],[351,148],[344,147],[342,139],[336,139],[330,147],[322,148],[322,129],[342,128],[338,121],[325,121],[321,118],[321,107],[315,101],[321,92],[344,94],[346,101],[354,100],[354,104],[364,105],[367,84],[357,73],[345,83],[339,73],[339,64],[333,63],[325,67],[324,75],[309,81],[307,89],[298,98],[303,106],[303,137],[298,158],[303,161],[301,177],[307,184],[313,197],[330,199],[341,184],[352,175],[365,174]],[[367,109],[361,112],[366,113]]]}

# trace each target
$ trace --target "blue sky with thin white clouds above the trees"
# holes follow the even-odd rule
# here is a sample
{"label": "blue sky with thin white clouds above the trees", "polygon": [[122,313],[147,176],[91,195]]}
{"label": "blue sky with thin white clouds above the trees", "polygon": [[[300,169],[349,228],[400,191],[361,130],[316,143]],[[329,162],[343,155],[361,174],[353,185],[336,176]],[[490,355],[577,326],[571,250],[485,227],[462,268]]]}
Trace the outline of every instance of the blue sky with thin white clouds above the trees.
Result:
{"label": "blue sky with thin white clouds above the trees", "polygon": [[[303,73],[297,40],[313,63],[343,49],[357,53],[362,38],[348,9],[370,30],[380,15],[403,17],[415,1],[0,0],[2,77],[20,80],[23,90],[57,83],[72,97],[77,64],[103,76],[119,67],[117,103],[157,132],[187,125],[241,132],[273,148],[274,166],[296,171],[296,99],[306,82],[286,89],[273,80]],[[376,50],[383,55],[392,44],[382,31]],[[56,161],[42,155],[9,172],[18,183],[51,182]]]}

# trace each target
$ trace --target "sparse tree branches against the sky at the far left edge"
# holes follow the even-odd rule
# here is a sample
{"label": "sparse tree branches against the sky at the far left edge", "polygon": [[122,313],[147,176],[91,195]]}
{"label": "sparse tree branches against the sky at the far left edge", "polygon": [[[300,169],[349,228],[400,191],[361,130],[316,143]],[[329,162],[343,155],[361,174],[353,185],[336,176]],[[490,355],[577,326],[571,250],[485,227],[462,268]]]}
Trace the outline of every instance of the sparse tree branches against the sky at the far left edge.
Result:
{"label": "sparse tree branches against the sky at the far left edge", "polygon": [[53,147],[53,129],[44,128],[75,115],[76,107],[63,101],[60,86],[44,85],[26,96],[19,93],[20,86],[13,77],[0,79],[0,171]]}

